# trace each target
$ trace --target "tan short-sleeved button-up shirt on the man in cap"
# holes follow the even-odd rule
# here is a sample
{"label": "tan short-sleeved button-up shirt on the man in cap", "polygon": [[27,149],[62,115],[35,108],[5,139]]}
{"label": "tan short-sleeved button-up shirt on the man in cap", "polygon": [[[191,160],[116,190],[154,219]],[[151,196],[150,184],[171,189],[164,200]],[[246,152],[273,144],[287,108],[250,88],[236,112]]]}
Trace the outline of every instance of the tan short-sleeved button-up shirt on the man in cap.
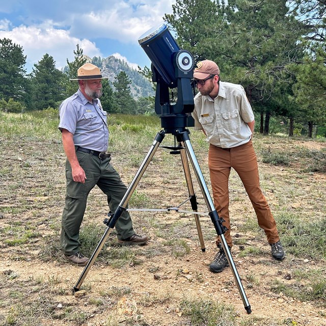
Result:
{"label": "tan short-sleeved button-up shirt on the man in cap", "polygon": [[230,148],[246,144],[252,132],[247,122],[255,117],[241,85],[220,82],[219,94],[214,98],[198,93],[195,96],[195,130],[204,130],[206,141]]}

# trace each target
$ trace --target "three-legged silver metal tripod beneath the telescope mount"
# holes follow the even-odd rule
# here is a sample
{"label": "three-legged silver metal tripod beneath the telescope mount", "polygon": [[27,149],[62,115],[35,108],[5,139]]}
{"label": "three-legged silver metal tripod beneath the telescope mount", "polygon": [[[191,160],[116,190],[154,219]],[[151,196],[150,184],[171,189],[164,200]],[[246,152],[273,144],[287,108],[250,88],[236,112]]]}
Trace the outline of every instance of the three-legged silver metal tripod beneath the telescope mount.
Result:
{"label": "three-legged silver metal tripod beneath the telescope mount", "polygon": [[[224,227],[222,225],[223,220],[220,219],[218,212],[216,212],[212,199],[209,195],[209,191],[207,188],[207,185],[205,183],[203,174],[201,172],[201,169],[199,167],[195,152],[193,150],[193,147],[191,145],[190,139],[189,139],[189,131],[187,129],[185,129],[184,127],[178,127],[178,128],[172,128],[171,130],[161,130],[156,134],[155,140],[153,142],[153,144],[151,145],[151,148],[149,149],[148,153],[146,154],[139,170],[137,171],[137,173],[135,174],[135,176],[133,177],[124,197],[122,198],[118,208],[116,209],[116,211],[114,212],[114,214],[111,214],[110,219],[105,219],[104,220],[104,224],[107,225],[107,228],[101,238],[101,240],[99,241],[93,255],[91,256],[88,264],[85,266],[82,275],[80,275],[76,285],[74,286],[74,290],[78,291],[80,286],[83,284],[89,269],[92,267],[94,261],[96,260],[100,250],[102,249],[105,240],[107,239],[108,235],[111,233],[112,229],[115,227],[116,222],[118,221],[119,217],[121,216],[121,214],[123,213],[124,210],[126,210],[128,201],[132,195],[132,193],[134,192],[135,188],[137,187],[139,181],[141,180],[142,176],[144,175],[146,168],[148,167],[151,159],[153,158],[157,148],[159,147],[160,143],[164,140],[166,133],[172,133],[174,134],[174,136],[176,137],[177,141],[182,145],[182,147],[185,149],[187,156],[189,157],[189,160],[191,161],[192,167],[194,169],[196,178],[198,180],[201,192],[203,194],[205,203],[207,205],[207,208],[209,209],[209,213],[208,215],[210,216],[210,219],[214,225],[215,231],[218,234],[219,238],[220,238],[220,242],[222,244],[222,247],[224,249],[225,255],[227,257],[227,260],[229,262],[230,268],[232,270],[232,274],[233,277],[235,279],[237,288],[239,290],[240,296],[241,296],[241,300],[242,303],[244,305],[244,309],[246,309],[247,313],[250,314],[251,313],[251,307],[250,304],[248,302],[246,293],[244,292],[240,277],[238,275],[238,272],[236,270],[233,258],[231,256],[231,252],[229,250],[228,244],[225,240],[224,237]],[[188,185],[188,192],[189,192],[189,196],[191,196],[192,198],[195,198],[195,200],[192,200],[192,208],[194,209],[194,211],[197,211],[197,204],[195,205],[194,202],[196,202],[196,197],[194,194],[194,190],[193,190],[193,186],[192,186],[192,182],[191,179],[189,179],[189,170],[188,170],[188,164],[187,164],[187,156],[183,151],[183,148],[180,152],[181,154],[181,160],[182,160],[182,165],[184,168],[184,172],[185,172],[185,176],[186,176],[186,181],[187,181],[187,185]],[[199,219],[198,219],[198,214],[197,215],[197,219],[196,219],[196,225],[197,225],[197,230],[198,230],[198,234],[199,234],[199,238],[200,238],[200,243],[201,243],[201,248],[202,251],[205,250],[204,247],[204,242],[203,242],[203,238],[202,238],[202,233],[201,233],[201,228],[200,228],[200,223],[199,223]],[[198,223],[197,223],[198,222]]]}

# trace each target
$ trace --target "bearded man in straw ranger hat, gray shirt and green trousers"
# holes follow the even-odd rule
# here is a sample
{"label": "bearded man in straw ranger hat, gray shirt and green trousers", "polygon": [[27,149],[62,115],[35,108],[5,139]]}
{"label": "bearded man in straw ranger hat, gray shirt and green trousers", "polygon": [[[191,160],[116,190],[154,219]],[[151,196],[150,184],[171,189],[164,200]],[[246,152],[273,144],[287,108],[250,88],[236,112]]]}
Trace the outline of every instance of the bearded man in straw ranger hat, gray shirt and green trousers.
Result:
{"label": "bearded man in straw ranger hat, gray shirt and green trousers", "polygon": [[[64,258],[85,266],[89,258],[79,250],[79,228],[82,224],[87,197],[95,185],[107,196],[111,211],[115,211],[126,192],[118,172],[110,164],[107,113],[99,98],[102,95],[102,77],[98,67],[86,63],[77,70],[78,91],[65,99],[59,108],[59,130],[67,156],[67,191],[62,214],[60,244]],[[124,211],[115,225],[118,243],[145,244],[146,235],[138,235]]]}

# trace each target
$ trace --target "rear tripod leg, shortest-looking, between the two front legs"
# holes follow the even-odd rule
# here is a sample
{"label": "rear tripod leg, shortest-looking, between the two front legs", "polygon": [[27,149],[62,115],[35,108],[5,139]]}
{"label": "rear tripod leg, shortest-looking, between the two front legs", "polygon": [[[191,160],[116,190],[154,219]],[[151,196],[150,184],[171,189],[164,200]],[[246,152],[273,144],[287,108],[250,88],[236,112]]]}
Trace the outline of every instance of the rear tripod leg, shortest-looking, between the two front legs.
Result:
{"label": "rear tripod leg, shortest-looking, between the two front legs", "polygon": [[[181,146],[184,147],[183,142],[181,143]],[[190,174],[187,154],[186,154],[184,148],[180,149],[180,156],[181,156],[185,180],[187,182],[190,202],[192,204],[192,209],[195,212],[194,216],[195,216],[195,222],[196,222],[197,232],[198,232],[198,236],[199,236],[200,248],[204,252],[206,249],[205,249],[205,242],[204,242],[204,238],[203,238],[203,232],[202,232],[202,228],[200,226],[199,215],[196,214],[196,212],[198,212],[197,200],[196,200],[196,195],[195,195],[195,191],[194,191],[192,176]]]}

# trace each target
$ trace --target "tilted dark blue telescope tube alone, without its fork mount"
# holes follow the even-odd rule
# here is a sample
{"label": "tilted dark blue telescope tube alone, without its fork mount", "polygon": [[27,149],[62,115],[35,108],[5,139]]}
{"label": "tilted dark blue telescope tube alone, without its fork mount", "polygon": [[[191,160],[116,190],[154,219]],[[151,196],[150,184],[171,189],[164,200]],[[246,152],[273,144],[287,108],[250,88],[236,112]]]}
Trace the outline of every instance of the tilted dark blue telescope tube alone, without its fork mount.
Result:
{"label": "tilted dark blue telescope tube alone, without its fork mount", "polygon": [[152,64],[169,85],[176,87],[173,56],[180,50],[165,24],[160,24],[145,32],[138,40]]}

